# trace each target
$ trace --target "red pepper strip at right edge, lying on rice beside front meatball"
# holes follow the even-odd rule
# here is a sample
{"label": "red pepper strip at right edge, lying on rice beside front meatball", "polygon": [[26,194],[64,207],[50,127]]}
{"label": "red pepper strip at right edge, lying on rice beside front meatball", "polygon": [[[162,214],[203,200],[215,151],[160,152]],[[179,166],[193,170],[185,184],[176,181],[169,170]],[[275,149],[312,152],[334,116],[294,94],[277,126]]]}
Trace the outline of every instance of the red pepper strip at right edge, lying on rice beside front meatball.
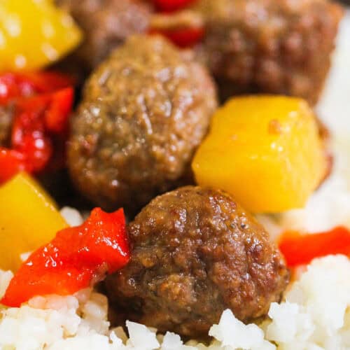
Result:
{"label": "red pepper strip at right edge, lying on rice beside front meatball", "polygon": [[350,232],[344,227],[310,235],[286,232],[279,240],[279,249],[290,267],[309,264],[325,255],[350,255]]}

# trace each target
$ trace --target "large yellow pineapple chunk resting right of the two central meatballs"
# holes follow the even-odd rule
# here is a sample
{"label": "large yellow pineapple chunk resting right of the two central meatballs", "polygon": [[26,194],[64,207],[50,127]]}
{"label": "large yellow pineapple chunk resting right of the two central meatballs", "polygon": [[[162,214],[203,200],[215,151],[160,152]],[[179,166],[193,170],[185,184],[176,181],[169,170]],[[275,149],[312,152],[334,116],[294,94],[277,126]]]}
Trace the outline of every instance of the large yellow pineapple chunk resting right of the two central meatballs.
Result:
{"label": "large yellow pineapple chunk resting right of the two central meatballs", "polygon": [[201,186],[226,190],[255,213],[274,213],[304,207],[327,161],[307,102],[257,96],[218,109],[192,167]]}

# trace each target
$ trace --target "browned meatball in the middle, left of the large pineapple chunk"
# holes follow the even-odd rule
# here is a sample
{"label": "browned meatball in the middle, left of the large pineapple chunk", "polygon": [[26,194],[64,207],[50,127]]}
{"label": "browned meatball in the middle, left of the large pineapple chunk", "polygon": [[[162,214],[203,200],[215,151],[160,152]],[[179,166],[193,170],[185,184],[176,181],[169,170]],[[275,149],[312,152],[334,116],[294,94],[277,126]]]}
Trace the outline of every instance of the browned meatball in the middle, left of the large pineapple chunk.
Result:
{"label": "browned meatball in the middle, left of the large pineapple chunk", "polygon": [[160,36],[130,38],[87,81],[71,125],[71,179],[105,209],[141,208],[192,181],[216,106],[203,66]]}

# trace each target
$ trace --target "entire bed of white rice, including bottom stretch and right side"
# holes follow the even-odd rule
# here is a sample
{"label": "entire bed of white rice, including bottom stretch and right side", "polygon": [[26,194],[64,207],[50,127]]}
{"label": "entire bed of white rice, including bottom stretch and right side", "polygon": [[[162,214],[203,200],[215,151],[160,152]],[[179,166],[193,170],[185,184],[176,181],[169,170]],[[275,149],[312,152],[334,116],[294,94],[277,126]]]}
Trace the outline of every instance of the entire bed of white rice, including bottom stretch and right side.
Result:
{"label": "entire bed of white rice, including bottom stretch and right side", "polygon": [[[342,23],[334,66],[317,107],[333,133],[335,171],[304,209],[259,217],[274,237],[286,229],[350,228],[349,62],[350,13]],[[74,209],[65,208],[62,215],[71,225],[82,220]],[[0,297],[12,276],[0,271]],[[311,262],[260,325],[244,325],[230,310],[224,311],[218,325],[211,327],[213,341],[207,346],[183,344],[179,335],[157,335],[133,322],[127,322],[127,338],[122,328],[110,328],[106,297],[90,289],[68,297],[35,297],[20,308],[0,311],[1,350],[345,350],[350,349],[350,260],[334,255]]]}

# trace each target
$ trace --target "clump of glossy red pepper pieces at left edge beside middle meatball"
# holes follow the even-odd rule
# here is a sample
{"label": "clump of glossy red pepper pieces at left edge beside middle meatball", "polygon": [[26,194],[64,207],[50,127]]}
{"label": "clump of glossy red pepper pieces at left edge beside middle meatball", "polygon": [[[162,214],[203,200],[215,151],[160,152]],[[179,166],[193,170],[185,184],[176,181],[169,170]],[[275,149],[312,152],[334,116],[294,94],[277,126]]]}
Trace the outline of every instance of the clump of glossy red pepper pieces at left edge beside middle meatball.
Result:
{"label": "clump of glossy red pepper pieces at left edge beside middle meatball", "polygon": [[42,172],[54,148],[61,153],[55,153],[55,162],[64,164],[62,144],[74,95],[73,88],[67,87],[71,83],[71,78],[55,72],[0,76],[0,104],[15,102],[11,149],[3,148],[0,157],[0,183],[22,170]]}

